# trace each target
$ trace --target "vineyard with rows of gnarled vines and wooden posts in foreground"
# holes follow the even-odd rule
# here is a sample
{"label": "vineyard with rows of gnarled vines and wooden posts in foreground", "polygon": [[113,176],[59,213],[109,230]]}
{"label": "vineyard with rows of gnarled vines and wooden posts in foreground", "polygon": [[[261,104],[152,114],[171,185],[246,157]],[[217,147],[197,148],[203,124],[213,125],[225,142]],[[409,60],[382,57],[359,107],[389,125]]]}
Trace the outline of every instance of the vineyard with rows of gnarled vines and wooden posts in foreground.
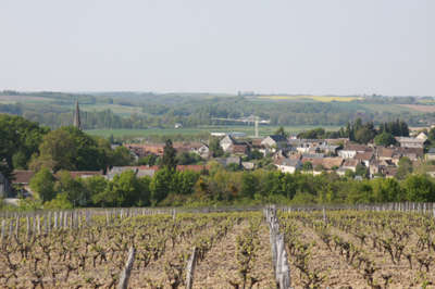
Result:
{"label": "vineyard with rows of gnarled vines and wooden posts in foreground", "polygon": [[1,288],[425,288],[434,266],[428,206],[1,217]]}

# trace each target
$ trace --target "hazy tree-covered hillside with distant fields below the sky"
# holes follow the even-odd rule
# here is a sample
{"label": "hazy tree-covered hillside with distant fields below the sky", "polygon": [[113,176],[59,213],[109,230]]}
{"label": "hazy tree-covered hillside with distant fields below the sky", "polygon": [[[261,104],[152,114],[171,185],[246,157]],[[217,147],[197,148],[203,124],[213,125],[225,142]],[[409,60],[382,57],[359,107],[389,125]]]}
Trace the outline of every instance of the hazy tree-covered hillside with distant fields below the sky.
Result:
{"label": "hazy tree-covered hillside with distant fields below the sky", "polygon": [[[215,118],[249,115],[271,125],[343,126],[362,118],[375,125],[403,120],[411,126],[435,122],[435,100],[417,97],[263,97],[151,92],[0,92],[0,112],[24,116],[51,128],[71,125],[78,100],[85,129],[184,127],[238,124]],[[338,100],[338,101],[337,101]]]}

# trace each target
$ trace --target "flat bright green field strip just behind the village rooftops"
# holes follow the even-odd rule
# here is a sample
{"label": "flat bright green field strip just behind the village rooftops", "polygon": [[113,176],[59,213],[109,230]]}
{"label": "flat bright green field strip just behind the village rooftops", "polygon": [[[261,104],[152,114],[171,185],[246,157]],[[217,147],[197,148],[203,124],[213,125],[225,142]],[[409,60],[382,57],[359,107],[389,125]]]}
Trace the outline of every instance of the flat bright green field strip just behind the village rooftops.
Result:
{"label": "flat bright green field strip just behind the village rooftops", "polygon": [[[284,129],[290,134],[298,134],[303,130],[315,128],[320,126],[286,126]],[[338,126],[322,126],[326,130],[337,130]],[[260,136],[272,135],[278,126],[260,126]],[[254,134],[253,126],[201,126],[196,128],[149,128],[149,129],[89,129],[86,133],[100,136],[110,137],[113,135],[116,138],[121,137],[148,137],[148,136],[196,136],[209,133],[245,133],[247,136],[252,136]]]}

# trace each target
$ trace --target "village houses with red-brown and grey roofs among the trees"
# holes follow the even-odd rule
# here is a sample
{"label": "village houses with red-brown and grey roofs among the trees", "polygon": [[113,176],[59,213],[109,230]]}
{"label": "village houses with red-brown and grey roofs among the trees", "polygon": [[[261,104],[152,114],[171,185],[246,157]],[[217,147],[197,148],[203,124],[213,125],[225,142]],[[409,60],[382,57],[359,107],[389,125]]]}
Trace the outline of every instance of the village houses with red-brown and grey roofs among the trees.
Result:
{"label": "village houses with red-brown and grey roofs among the trees", "polygon": [[[201,172],[210,167],[211,162],[232,169],[252,171],[264,167],[276,168],[283,173],[304,174],[336,173],[339,176],[352,176],[356,179],[396,176],[399,161],[407,158],[413,167],[425,164],[426,174],[435,176],[435,150],[425,152],[427,136],[420,133],[414,137],[396,137],[397,146],[381,147],[373,143],[352,143],[347,138],[338,139],[298,139],[271,135],[264,138],[246,139],[227,134],[219,140],[223,154],[213,156],[208,143],[174,142],[177,153],[192,153],[200,156],[197,164],[177,165],[177,171]],[[123,143],[132,154],[133,163],[141,158],[163,155],[164,143]],[[115,149],[117,146],[112,146]],[[264,162],[268,160],[269,162]],[[134,171],[137,177],[150,176],[159,169],[158,165],[113,166],[107,172],[70,172],[73,178],[86,178],[96,175],[111,180],[125,171]],[[104,174],[105,173],[105,174]],[[29,191],[33,171],[14,171],[13,186]],[[1,183],[1,181],[0,181]]]}

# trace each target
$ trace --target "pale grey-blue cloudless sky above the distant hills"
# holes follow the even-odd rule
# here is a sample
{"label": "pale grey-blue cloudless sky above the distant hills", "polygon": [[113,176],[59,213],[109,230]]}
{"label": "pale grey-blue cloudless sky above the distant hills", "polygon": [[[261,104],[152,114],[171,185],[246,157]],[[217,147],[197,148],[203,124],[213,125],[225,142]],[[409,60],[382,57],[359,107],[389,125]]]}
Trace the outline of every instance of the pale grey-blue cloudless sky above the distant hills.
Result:
{"label": "pale grey-blue cloudless sky above the distant hills", "polygon": [[435,96],[434,0],[1,0],[0,90]]}

